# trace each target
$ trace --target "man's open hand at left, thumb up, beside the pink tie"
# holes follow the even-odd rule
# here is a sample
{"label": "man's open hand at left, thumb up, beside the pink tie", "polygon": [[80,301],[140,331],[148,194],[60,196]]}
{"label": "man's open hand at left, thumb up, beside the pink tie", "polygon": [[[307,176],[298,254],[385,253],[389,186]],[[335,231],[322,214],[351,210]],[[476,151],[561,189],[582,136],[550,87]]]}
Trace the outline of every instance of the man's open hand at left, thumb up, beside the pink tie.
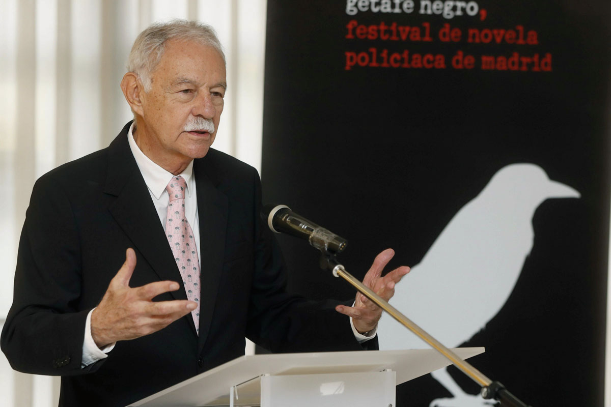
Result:
{"label": "man's open hand at left, thumb up, beside the pink tie", "polygon": [[130,287],[136,267],[136,253],[129,248],[125,263],[112,278],[106,294],[91,314],[91,335],[102,348],[117,340],[136,339],[165,328],[196,309],[188,300],[155,301],[164,292],[180,288],[176,281],[156,281],[142,287]]}

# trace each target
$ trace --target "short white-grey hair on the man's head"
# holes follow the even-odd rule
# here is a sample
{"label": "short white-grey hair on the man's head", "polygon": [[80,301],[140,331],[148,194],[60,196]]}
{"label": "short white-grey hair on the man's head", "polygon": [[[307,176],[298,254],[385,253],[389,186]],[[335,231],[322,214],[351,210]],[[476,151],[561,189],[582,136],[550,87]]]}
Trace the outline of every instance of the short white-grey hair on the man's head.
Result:
{"label": "short white-grey hair on the man's head", "polygon": [[151,74],[161,61],[167,40],[197,41],[202,45],[211,46],[219,52],[223,62],[227,63],[221,41],[213,27],[197,21],[180,19],[167,23],[153,23],[138,35],[131,47],[130,59],[127,62],[128,72],[136,73],[140,77],[145,92],[150,91]]}

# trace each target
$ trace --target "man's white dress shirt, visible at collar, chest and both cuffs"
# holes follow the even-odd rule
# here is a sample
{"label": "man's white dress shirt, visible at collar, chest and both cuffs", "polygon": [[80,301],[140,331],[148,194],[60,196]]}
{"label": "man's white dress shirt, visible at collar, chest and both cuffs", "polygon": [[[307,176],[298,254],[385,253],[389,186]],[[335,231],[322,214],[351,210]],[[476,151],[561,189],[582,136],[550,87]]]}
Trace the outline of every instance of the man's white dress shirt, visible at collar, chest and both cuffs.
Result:
{"label": "man's white dress shirt, visible at collar, chest and both cuffs", "polygon": [[[166,217],[167,217],[167,206],[170,203],[170,197],[167,194],[166,186],[170,179],[174,177],[174,174],[164,170],[159,167],[159,165],[155,164],[150,158],[142,153],[142,150],[136,144],[136,140],[134,140],[133,131],[135,127],[135,122],[131,124],[130,130],[128,131],[127,139],[130,143],[131,153],[136,159],[136,164],[142,173],[142,178],[144,178],[144,182],[147,185],[148,193],[150,193],[151,200],[153,204],[155,204],[155,209],[157,210],[157,214],[159,215],[159,222],[163,228],[166,227]],[[185,179],[187,184],[187,193],[185,194],[185,217],[191,225],[191,229],[193,229],[193,234],[195,237],[195,243],[197,246],[197,258],[201,259],[201,251],[199,248],[199,217],[197,213],[197,193],[196,193],[196,182],[195,176],[193,175],[193,161],[187,165],[185,170],[179,174],[181,177]],[[86,367],[92,364],[93,362],[97,362],[100,359],[104,359],[108,357],[109,351],[114,348],[115,344],[110,344],[102,349],[98,348],[95,342],[93,341],[93,337],[91,335],[91,313],[87,314],[87,320],[85,323],[85,338],[82,344],[82,362],[81,367]],[[373,338],[376,335],[376,330],[370,331],[368,336],[364,336],[360,334],[356,328],[354,328],[354,323],[352,319],[350,320],[350,326],[352,327],[354,337],[359,342],[365,342]]]}

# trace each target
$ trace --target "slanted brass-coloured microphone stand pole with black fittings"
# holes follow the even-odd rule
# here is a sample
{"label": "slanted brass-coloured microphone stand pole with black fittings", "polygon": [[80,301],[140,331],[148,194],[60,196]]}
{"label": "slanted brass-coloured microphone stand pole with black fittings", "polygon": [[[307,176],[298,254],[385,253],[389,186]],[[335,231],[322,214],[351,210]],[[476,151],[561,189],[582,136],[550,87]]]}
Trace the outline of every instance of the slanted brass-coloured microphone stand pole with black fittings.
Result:
{"label": "slanted brass-coloured microphone stand pole with black fittings", "polygon": [[390,305],[386,300],[380,297],[378,294],[373,292],[369,287],[365,286],[358,279],[354,278],[353,275],[348,273],[342,264],[337,262],[335,253],[329,253],[329,251],[321,250],[322,256],[320,259],[320,265],[323,270],[329,270],[335,277],[341,277],[348,281],[351,286],[357,289],[360,294],[365,295],[369,300],[373,301],[379,308],[388,312],[390,316],[396,319],[401,325],[408,328],[414,334],[424,340],[427,344],[431,345],[436,351],[444,355],[452,364],[460,369],[464,374],[469,376],[475,383],[481,386],[481,397],[486,399],[494,399],[500,402],[501,406],[507,407],[530,407],[525,405],[519,400],[518,397],[511,394],[505,386],[500,384],[498,381],[492,381],[475,367],[461,359],[452,350],[446,348],[441,342],[426,333],[425,330],[420,328],[414,322],[408,319],[405,315],[401,314],[396,308]]}

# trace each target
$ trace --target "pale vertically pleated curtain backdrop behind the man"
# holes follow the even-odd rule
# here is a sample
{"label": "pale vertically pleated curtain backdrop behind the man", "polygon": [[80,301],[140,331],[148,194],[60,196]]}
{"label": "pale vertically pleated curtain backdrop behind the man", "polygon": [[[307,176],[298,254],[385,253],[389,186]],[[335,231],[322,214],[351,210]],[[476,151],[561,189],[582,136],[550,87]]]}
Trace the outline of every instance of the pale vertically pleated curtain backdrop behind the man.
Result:
{"label": "pale vertically pleated curtain backdrop behind the man", "polygon": [[[216,28],[229,88],[214,147],[260,170],[265,17],[265,0],[0,0],[0,327],[32,185],[107,146],[131,119],[119,82],[148,24]],[[0,405],[57,406],[58,396],[59,378],[13,372],[0,354]]]}

